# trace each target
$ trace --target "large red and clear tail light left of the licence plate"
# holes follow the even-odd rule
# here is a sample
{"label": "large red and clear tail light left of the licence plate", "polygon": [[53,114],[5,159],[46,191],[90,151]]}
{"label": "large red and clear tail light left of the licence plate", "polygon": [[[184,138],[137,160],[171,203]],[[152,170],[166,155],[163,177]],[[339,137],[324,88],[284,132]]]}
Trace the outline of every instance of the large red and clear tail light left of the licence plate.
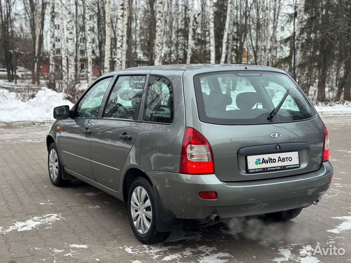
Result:
{"label": "large red and clear tail light left of the licence plate", "polygon": [[179,173],[215,173],[211,146],[206,138],[193,128],[185,128]]}

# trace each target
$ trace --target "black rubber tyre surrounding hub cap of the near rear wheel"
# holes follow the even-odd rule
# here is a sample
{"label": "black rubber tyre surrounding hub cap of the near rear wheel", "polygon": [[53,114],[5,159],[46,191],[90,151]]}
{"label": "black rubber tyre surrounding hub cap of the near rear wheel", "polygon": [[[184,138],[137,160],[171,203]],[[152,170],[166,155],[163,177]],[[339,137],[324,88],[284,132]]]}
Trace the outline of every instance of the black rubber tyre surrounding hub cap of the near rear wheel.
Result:
{"label": "black rubber tyre surrounding hub cap of the near rear wheel", "polygon": [[[132,198],[132,194],[135,188],[137,187],[142,187],[145,189],[145,191],[147,192],[147,195],[150,199],[150,203],[151,203],[151,212],[152,212],[152,219],[151,219],[151,224],[150,224],[150,228],[149,230],[145,233],[142,234],[140,232],[138,232],[136,226],[134,225],[133,219],[132,219],[132,211],[131,211],[131,198]],[[154,191],[152,188],[152,185],[150,184],[150,182],[148,180],[146,180],[143,177],[137,177],[133,183],[132,186],[129,188],[129,193],[128,193],[128,215],[129,215],[129,223],[132,227],[133,233],[136,236],[136,238],[144,243],[144,244],[156,244],[156,243],[160,243],[165,241],[169,235],[170,232],[159,232],[157,231],[156,228],[156,208],[155,208],[155,197],[154,197]]]}

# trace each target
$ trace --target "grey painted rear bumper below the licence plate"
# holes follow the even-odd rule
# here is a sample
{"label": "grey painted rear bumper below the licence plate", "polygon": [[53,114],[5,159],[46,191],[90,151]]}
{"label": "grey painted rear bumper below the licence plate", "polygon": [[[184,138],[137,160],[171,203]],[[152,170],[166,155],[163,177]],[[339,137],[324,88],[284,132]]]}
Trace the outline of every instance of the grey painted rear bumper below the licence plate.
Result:
{"label": "grey painted rear bumper below the licence plate", "polygon": [[[164,171],[147,172],[169,216],[203,219],[248,216],[308,207],[329,188],[333,168],[266,180],[224,183],[215,174],[187,175]],[[200,199],[200,191],[216,191],[216,200]]]}

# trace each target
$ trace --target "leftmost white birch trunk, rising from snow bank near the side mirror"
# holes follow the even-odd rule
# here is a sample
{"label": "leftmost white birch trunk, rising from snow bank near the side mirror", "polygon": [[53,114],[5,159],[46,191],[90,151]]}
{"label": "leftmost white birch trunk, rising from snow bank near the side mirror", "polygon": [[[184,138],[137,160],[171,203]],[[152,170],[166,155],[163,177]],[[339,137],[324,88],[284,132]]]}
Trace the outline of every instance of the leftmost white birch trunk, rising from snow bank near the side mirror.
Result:
{"label": "leftmost white birch trunk, rising from snow bank near the side mirror", "polygon": [[55,0],[51,0],[50,9],[50,51],[49,51],[49,88],[55,90]]}

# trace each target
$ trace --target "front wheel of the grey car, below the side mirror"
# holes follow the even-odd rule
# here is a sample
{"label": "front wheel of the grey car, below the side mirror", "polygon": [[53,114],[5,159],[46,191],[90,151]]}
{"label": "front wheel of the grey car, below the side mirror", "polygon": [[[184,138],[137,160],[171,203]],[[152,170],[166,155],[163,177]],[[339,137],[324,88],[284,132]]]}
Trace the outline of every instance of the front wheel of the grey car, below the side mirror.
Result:
{"label": "front wheel of the grey car, below the side mirror", "polygon": [[71,180],[62,179],[62,166],[55,143],[49,147],[48,169],[50,181],[54,186],[68,186],[70,184]]}

